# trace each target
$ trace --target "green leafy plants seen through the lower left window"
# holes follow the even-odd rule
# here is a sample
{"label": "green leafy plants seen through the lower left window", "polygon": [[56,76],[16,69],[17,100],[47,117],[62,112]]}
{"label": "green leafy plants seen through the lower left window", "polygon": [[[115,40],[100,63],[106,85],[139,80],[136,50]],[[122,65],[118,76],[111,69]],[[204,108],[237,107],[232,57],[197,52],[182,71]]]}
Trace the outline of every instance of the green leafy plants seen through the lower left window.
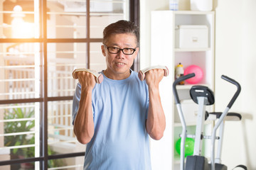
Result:
{"label": "green leafy plants seen through the lower left window", "polygon": [[[24,118],[34,118],[35,111],[31,108],[11,108],[6,109],[4,113],[5,120],[21,119],[18,121],[9,121],[4,123],[4,133],[15,132],[31,132],[35,128],[35,120],[22,120]],[[35,144],[35,135],[7,135],[4,137],[4,146],[22,146]],[[11,154],[17,158],[33,158],[35,157],[35,147],[23,147],[11,149]],[[48,146],[48,155],[55,154]],[[48,160],[48,168],[63,166],[64,163],[60,159]]]}

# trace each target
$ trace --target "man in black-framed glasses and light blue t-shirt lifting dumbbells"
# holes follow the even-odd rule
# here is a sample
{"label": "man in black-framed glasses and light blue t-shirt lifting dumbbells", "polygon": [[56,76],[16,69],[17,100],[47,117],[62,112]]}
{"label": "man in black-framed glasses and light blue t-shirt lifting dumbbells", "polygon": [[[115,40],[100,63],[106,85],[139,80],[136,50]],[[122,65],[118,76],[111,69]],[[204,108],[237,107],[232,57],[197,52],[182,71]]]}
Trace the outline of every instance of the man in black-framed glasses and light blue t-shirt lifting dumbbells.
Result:
{"label": "man in black-framed glasses and light blue t-shirt lifting dumbbells", "polygon": [[130,21],[107,26],[101,48],[104,80],[96,84],[92,74],[78,72],[73,99],[74,132],[87,144],[84,169],[151,169],[149,135],[160,140],[166,126],[159,96],[164,71],[152,69],[140,81],[130,69],[139,52],[139,29]]}

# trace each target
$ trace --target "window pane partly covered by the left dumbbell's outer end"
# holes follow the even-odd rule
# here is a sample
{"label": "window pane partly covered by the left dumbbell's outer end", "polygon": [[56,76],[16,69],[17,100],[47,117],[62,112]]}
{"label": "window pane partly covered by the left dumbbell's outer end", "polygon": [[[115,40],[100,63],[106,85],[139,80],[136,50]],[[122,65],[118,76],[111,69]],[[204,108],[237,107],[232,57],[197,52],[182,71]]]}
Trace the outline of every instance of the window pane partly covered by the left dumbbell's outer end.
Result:
{"label": "window pane partly covered by the left dumbbell's outer end", "polygon": [[87,67],[86,43],[48,43],[48,96],[73,96],[72,72]]}

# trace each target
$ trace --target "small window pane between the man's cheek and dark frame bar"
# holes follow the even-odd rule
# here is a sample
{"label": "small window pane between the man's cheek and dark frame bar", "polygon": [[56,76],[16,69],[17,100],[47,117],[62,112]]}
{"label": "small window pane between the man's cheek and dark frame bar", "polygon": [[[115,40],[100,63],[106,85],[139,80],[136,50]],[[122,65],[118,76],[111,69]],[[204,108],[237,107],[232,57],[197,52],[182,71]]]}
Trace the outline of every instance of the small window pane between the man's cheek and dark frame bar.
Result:
{"label": "small window pane between the man's cheek and dark frame bar", "polygon": [[102,42],[90,43],[90,69],[97,72],[107,68],[106,58],[102,55]]}

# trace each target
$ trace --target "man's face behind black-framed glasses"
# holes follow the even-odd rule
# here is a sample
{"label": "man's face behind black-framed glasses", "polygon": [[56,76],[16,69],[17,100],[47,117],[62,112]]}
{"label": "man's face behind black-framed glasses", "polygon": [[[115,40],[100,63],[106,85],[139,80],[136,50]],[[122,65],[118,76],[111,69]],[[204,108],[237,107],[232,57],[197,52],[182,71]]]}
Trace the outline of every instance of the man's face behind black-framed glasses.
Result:
{"label": "man's face behind black-framed glasses", "polygon": [[[111,54],[107,47],[134,48],[136,51],[132,55],[124,55],[122,50],[117,54]],[[129,69],[132,67],[134,59],[137,57],[139,47],[137,38],[131,33],[120,33],[111,35],[105,45],[102,45],[102,54],[106,57],[107,77],[110,79],[126,79],[129,77]]]}

